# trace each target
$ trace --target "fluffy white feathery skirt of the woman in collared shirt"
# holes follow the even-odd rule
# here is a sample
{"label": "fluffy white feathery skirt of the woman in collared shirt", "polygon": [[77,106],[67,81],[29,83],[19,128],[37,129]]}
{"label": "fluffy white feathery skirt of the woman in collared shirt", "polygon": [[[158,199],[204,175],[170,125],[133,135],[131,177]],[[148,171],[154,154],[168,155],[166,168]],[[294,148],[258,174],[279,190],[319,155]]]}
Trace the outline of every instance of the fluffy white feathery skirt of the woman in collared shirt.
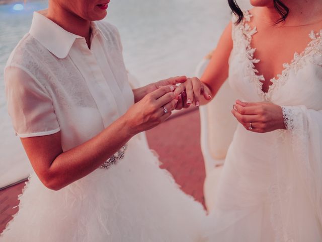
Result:
{"label": "fluffy white feathery skirt of the woman in collared shirt", "polygon": [[124,159],[52,191],[31,174],[1,242],[199,241],[205,211],[139,140]]}

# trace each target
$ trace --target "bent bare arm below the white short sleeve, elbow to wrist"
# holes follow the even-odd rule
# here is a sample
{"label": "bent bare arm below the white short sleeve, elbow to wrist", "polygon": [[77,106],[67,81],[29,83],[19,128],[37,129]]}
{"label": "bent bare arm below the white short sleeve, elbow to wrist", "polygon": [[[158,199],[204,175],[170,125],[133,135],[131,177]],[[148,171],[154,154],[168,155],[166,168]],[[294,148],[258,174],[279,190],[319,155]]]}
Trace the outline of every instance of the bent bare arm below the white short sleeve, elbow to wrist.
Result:
{"label": "bent bare arm below the white short sleeve, elbow to wrist", "polygon": [[122,117],[99,135],[66,152],[61,148],[60,132],[21,138],[21,142],[43,184],[59,190],[97,169],[120,149],[132,137],[126,128]]}

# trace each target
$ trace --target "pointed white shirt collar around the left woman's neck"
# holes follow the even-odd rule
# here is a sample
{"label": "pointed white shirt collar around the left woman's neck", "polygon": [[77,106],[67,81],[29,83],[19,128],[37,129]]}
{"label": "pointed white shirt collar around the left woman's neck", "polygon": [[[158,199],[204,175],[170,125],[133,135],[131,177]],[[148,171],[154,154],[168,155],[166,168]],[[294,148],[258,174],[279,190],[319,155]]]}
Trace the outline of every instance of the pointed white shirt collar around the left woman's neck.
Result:
{"label": "pointed white shirt collar around the left woman's neck", "polygon": [[[48,9],[34,12],[29,33],[58,58],[65,58],[75,39],[84,37],[70,33],[46,18],[47,12]],[[91,29],[93,37],[98,32],[104,36],[95,22],[91,22]],[[104,36],[104,38],[106,37]]]}

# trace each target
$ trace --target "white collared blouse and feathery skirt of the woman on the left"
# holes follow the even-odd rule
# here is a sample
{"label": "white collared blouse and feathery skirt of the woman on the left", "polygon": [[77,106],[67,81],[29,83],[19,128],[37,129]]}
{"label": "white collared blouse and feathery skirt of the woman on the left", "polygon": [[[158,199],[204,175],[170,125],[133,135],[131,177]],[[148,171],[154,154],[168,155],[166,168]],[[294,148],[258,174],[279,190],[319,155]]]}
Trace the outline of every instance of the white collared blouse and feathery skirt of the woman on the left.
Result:
{"label": "white collared blouse and feathery skirt of the woman on the left", "polygon": [[[103,22],[93,22],[91,29],[90,50],[85,38],[35,13],[30,33],[5,70],[9,113],[19,137],[60,131],[66,151],[133,104],[117,30]],[[1,241],[194,241],[205,217],[201,204],[159,169],[137,137],[116,165],[59,191],[47,189],[32,173],[19,200]]]}

